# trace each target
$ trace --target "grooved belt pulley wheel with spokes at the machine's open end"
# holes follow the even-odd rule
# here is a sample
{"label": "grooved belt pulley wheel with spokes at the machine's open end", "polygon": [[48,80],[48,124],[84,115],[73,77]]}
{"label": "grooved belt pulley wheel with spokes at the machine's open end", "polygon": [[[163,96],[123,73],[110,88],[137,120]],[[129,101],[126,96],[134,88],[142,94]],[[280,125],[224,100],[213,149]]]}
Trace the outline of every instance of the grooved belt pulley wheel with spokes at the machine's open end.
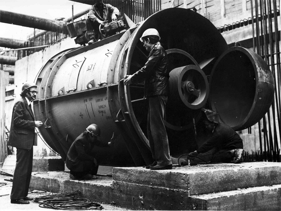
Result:
{"label": "grooved belt pulley wheel with spokes at the machine's open end", "polygon": [[170,72],[170,97],[190,109],[202,108],[209,96],[209,85],[200,67],[187,65]]}

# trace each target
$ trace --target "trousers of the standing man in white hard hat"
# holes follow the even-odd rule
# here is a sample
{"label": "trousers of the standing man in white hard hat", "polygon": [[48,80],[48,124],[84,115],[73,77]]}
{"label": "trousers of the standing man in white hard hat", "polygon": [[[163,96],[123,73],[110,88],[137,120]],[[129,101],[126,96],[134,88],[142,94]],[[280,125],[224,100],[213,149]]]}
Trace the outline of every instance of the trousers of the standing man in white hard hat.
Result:
{"label": "trousers of the standing man in white hard hat", "polygon": [[158,165],[172,164],[168,136],[164,125],[167,96],[148,97],[147,135],[152,158]]}

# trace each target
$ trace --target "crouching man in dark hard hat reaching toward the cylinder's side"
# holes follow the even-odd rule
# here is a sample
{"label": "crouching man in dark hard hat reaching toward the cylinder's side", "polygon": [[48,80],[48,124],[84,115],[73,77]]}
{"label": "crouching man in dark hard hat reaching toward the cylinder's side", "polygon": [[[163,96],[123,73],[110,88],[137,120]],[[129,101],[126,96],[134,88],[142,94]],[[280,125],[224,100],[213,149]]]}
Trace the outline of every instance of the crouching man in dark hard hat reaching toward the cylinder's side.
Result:
{"label": "crouching man in dark hard hat reaching toward the cylinder's side", "polygon": [[112,147],[116,139],[113,133],[111,141],[103,143],[97,139],[100,134],[100,127],[96,124],[90,124],[71,144],[66,159],[66,166],[70,170],[69,176],[71,179],[97,179],[94,175],[97,173],[98,163],[91,151],[94,146]]}

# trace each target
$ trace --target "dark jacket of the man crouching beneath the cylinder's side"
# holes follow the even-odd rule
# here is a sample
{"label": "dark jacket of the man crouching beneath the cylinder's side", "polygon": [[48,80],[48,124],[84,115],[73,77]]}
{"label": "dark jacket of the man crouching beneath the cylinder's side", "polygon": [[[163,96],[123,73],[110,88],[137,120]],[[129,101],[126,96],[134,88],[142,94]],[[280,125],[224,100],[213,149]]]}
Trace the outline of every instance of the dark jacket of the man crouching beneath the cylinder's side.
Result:
{"label": "dark jacket of the man crouching beneath the cylinder's side", "polygon": [[91,143],[84,133],[81,133],[71,144],[67,153],[66,166],[71,171],[83,171],[83,161],[94,161],[92,149],[94,146],[108,147],[108,143],[96,140]]}

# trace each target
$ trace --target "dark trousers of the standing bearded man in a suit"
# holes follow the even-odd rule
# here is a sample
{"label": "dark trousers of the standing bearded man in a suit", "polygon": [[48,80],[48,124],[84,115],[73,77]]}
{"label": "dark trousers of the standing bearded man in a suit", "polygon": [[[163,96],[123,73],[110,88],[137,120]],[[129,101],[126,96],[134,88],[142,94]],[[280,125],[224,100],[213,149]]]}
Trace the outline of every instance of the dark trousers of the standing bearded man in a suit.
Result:
{"label": "dark trousers of the standing bearded man in a suit", "polygon": [[23,199],[28,194],[33,162],[33,147],[17,148],[17,162],[13,175],[13,186],[10,199]]}

